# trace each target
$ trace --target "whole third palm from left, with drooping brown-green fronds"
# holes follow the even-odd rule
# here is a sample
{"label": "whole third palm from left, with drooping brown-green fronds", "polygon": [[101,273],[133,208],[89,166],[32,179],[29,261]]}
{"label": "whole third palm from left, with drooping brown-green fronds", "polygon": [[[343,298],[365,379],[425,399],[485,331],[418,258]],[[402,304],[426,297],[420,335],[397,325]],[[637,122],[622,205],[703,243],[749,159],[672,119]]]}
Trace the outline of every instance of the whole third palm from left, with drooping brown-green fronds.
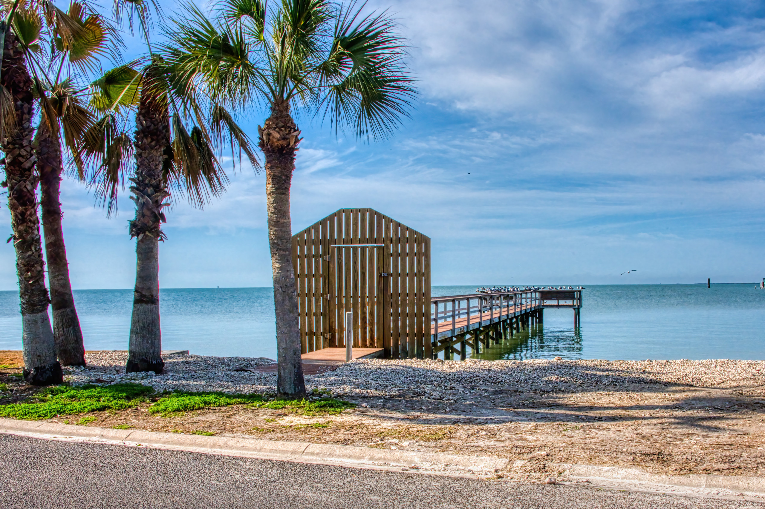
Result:
{"label": "whole third palm from left, with drooping brown-green fronds", "polygon": [[[177,74],[170,53],[152,52],[143,65],[120,66],[93,83],[93,105],[105,116],[86,133],[83,154],[96,170],[90,181],[96,196],[111,211],[125,182],[125,160],[131,153],[130,136],[120,128],[119,112],[137,106],[132,148],[135,172],[131,199],[135,219],[136,277],[126,372],[164,368],[161,359],[159,315],[159,241],[166,238],[161,223],[172,194],[187,196],[203,207],[220,196],[228,179],[215,153],[228,135],[232,147],[245,151],[253,164],[249,139],[223,106],[209,101],[205,90],[190,87]],[[191,123],[191,128],[187,127]],[[172,191],[172,193],[171,193]]]}

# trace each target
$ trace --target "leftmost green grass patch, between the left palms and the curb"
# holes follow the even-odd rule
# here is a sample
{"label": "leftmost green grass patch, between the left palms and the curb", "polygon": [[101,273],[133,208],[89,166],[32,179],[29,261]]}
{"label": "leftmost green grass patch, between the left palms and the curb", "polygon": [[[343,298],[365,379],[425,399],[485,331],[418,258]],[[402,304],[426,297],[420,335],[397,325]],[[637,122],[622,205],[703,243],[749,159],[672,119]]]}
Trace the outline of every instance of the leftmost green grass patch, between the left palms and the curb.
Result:
{"label": "leftmost green grass patch, between the left palms and the curb", "polygon": [[73,413],[122,410],[137,406],[152,392],[154,389],[141,384],[115,384],[106,387],[59,385],[38,392],[27,402],[0,405],[0,417],[38,420]]}

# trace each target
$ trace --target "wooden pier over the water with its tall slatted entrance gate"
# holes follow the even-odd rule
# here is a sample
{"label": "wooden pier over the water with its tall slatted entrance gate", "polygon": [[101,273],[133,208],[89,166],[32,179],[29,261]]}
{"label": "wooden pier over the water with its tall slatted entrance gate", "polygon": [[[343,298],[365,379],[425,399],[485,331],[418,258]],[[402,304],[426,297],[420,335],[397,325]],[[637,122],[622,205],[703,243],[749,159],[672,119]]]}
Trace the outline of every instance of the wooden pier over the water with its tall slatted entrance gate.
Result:
{"label": "wooden pier over the water with its tall slatted entrance gate", "polygon": [[464,358],[467,346],[541,323],[549,307],[574,309],[578,326],[581,290],[431,298],[430,247],[374,209],[340,209],[292,235],[304,361],[344,361],[346,336],[363,357]]}

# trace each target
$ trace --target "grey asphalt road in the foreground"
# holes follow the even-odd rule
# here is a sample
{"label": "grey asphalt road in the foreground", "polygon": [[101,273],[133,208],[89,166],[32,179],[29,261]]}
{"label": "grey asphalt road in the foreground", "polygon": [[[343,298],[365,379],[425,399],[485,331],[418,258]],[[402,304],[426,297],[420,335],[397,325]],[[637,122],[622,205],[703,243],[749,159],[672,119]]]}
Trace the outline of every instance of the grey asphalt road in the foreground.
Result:
{"label": "grey asphalt road in the foreground", "polygon": [[0,507],[728,509],[763,504],[474,481],[0,435]]}

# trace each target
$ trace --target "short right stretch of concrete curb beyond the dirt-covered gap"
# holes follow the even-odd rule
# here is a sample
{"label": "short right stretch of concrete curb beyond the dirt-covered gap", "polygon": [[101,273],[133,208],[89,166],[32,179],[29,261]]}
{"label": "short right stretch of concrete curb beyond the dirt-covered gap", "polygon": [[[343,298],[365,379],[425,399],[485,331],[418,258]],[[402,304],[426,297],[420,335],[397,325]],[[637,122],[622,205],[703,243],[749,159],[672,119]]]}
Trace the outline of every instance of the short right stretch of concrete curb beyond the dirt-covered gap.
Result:
{"label": "short right stretch of concrete curb beyond the dirt-covered gap", "polygon": [[559,463],[558,470],[564,470],[564,476],[591,481],[610,481],[643,485],[646,488],[699,488],[702,490],[728,490],[745,494],[765,494],[765,478],[745,477],[743,475],[659,475],[646,472],[643,468],[604,467],[594,465],[569,465]]}

